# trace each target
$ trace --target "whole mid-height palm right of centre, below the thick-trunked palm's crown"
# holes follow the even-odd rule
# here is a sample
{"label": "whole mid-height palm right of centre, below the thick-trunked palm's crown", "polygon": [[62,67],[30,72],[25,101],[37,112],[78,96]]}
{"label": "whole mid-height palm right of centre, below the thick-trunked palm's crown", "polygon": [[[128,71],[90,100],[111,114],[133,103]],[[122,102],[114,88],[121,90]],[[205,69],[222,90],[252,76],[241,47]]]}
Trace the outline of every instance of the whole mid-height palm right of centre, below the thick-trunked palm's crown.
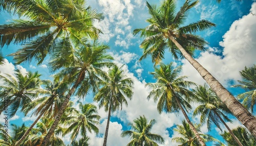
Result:
{"label": "whole mid-height palm right of centre, below the thick-trunked palm's crown", "polygon": [[150,72],[150,74],[153,75],[153,78],[157,81],[156,83],[147,83],[145,85],[152,89],[147,98],[153,98],[155,101],[158,100],[157,109],[159,113],[162,111],[178,112],[181,110],[191,130],[193,130],[197,136],[200,144],[205,145],[186,113],[187,109],[191,109],[191,106],[188,103],[190,100],[189,96],[193,96],[193,93],[188,90],[187,87],[196,84],[185,81],[187,78],[186,76],[179,77],[182,67],[178,66],[174,68],[173,62],[167,65],[161,63],[159,68],[154,68],[155,72]]}

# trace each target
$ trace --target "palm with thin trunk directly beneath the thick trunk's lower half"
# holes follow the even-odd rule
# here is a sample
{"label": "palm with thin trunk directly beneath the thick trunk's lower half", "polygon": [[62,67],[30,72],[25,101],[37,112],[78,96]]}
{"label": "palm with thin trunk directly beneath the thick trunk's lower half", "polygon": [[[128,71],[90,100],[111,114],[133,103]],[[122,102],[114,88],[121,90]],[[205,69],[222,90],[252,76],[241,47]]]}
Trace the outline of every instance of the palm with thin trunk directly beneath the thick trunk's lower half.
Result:
{"label": "palm with thin trunk directly beneath the thick trunk's lower half", "polygon": [[212,92],[206,84],[197,86],[193,91],[196,95],[196,102],[200,103],[195,109],[193,116],[201,114],[200,122],[202,124],[207,123],[208,131],[212,124],[216,125],[222,131],[220,123],[224,124],[234,140],[236,140],[237,144],[243,146],[225,123],[224,120],[232,122],[226,115],[230,113],[230,111],[227,109],[227,106],[217,98],[217,95]]}

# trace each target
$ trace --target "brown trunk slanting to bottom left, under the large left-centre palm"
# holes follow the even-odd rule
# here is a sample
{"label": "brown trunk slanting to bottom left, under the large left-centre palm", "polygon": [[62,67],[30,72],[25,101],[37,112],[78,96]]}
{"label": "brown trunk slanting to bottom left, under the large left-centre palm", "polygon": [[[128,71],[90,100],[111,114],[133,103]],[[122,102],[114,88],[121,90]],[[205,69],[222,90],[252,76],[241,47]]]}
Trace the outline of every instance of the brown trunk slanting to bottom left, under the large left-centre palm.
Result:
{"label": "brown trunk slanting to bottom left, under the large left-centre palm", "polygon": [[66,95],[66,99],[65,101],[63,102],[63,104],[61,105],[56,117],[55,117],[55,120],[54,120],[54,123],[52,124],[51,128],[49,129],[47,135],[45,136],[44,140],[42,140],[42,144],[41,146],[44,146],[44,145],[47,145],[50,141],[50,137],[52,136],[52,134],[54,133],[54,130],[55,128],[57,127],[58,123],[59,123],[59,120],[60,120],[60,117],[62,116],[63,112],[66,110],[67,108],[67,105],[70,101],[70,97],[71,95],[75,92],[75,89],[76,87],[78,86],[78,84],[75,84],[69,91],[68,95]]}

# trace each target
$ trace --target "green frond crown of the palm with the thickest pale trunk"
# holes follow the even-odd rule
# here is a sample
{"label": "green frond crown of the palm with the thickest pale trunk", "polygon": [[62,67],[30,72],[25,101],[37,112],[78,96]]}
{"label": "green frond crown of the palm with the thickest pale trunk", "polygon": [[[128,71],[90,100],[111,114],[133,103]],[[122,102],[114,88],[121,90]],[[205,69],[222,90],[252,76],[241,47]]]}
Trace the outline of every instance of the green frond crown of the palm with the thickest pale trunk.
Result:
{"label": "green frond crown of the palm with the thickest pale trunk", "polygon": [[166,48],[169,48],[173,57],[178,59],[181,53],[174,42],[169,39],[170,36],[174,37],[190,55],[193,55],[195,48],[204,50],[204,45],[207,42],[200,36],[192,33],[208,29],[215,26],[215,24],[207,20],[199,20],[187,26],[182,26],[188,15],[188,10],[197,3],[198,1],[191,3],[190,0],[186,0],[184,5],[175,14],[176,1],[174,0],[163,1],[160,7],[151,6],[146,2],[151,16],[146,21],[150,25],[143,29],[134,30],[134,35],[141,33],[140,37],[144,38],[140,45],[143,48],[143,55],[140,60],[148,55],[152,55],[152,61],[158,64],[164,58]]}

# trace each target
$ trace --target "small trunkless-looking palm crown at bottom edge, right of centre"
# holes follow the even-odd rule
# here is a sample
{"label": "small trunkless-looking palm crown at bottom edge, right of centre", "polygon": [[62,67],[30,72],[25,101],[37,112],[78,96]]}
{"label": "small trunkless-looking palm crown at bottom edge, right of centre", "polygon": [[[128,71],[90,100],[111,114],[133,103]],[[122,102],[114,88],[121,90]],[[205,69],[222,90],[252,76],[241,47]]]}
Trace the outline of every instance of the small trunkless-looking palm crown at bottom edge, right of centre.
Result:
{"label": "small trunkless-looking palm crown at bottom edge, right of centre", "polygon": [[132,141],[127,144],[127,146],[158,146],[156,142],[163,143],[164,140],[161,135],[150,132],[155,123],[155,119],[150,120],[148,123],[148,120],[144,115],[140,116],[139,118],[133,120],[133,124],[130,124],[132,130],[123,131],[121,136],[129,136],[132,139]]}

